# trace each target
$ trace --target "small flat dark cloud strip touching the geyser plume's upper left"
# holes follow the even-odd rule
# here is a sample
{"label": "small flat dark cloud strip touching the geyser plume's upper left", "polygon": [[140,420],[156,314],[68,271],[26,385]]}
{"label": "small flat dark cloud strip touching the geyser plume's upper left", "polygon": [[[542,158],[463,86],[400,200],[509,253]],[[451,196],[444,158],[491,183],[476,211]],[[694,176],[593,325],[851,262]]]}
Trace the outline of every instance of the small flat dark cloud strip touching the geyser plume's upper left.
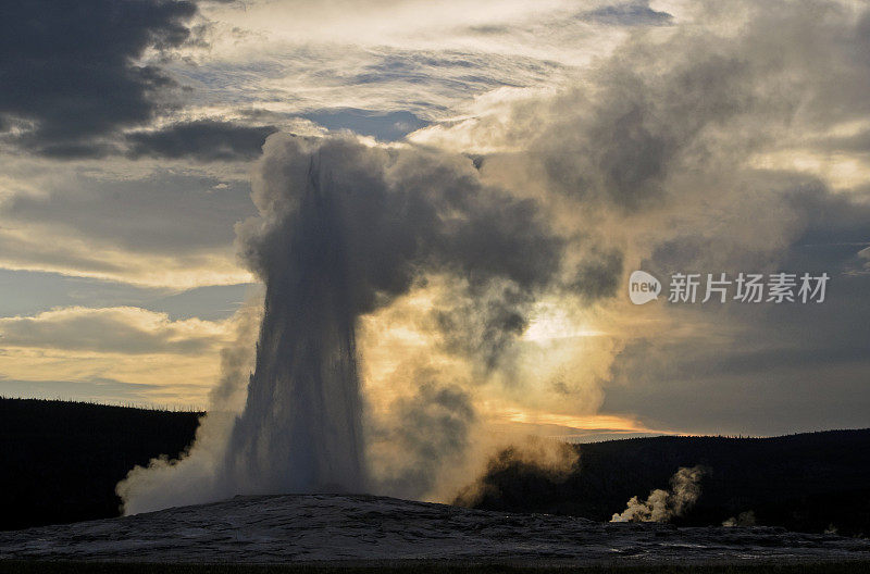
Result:
{"label": "small flat dark cloud strip touching the geyser plume's upper left", "polygon": [[189,158],[197,161],[249,160],[260,154],[263,141],[277,129],[201,120],[174,124],[157,132],[127,134],[132,158]]}

